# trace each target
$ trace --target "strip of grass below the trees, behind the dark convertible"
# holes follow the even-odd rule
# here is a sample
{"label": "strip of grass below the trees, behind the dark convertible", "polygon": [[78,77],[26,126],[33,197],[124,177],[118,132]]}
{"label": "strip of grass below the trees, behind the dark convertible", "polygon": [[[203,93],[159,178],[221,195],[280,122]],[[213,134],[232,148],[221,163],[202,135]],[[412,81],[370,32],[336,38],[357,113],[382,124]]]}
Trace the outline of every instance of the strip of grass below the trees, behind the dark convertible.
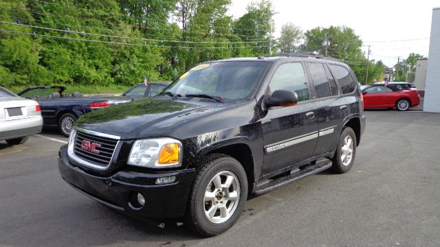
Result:
{"label": "strip of grass below the trees, behind the dark convertible", "polygon": [[[8,89],[14,93],[25,89],[27,86],[11,86]],[[121,86],[121,85],[111,85],[111,86],[87,86],[87,85],[71,85],[67,86],[64,93],[80,92],[82,94],[98,94],[98,93],[108,93],[108,94],[122,94],[129,90],[131,86]]]}

